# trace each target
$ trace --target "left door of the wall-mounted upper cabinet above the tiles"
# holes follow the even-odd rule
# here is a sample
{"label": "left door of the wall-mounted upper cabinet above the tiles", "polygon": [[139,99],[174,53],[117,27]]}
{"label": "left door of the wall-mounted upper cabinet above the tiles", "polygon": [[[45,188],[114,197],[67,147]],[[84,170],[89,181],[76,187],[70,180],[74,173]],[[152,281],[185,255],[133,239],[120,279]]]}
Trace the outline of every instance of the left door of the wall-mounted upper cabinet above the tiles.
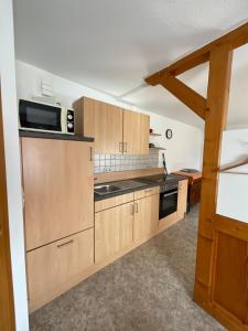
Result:
{"label": "left door of the wall-mounted upper cabinet above the tiles", "polygon": [[84,98],[84,134],[95,138],[96,153],[122,153],[122,109]]}

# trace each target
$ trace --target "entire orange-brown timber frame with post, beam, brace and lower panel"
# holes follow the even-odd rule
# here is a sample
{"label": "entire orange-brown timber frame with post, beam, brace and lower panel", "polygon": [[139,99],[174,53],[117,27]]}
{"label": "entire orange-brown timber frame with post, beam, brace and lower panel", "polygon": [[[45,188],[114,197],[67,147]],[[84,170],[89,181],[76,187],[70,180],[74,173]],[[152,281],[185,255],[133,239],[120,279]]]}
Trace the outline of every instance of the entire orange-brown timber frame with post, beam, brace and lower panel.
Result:
{"label": "entire orange-brown timber frame with post, beam, brace and lower panel", "polygon": [[[248,224],[218,215],[217,196],[233,51],[245,44],[248,22],[145,78],[152,86],[162,85],[205,121],[194,300],[237,331],[248,331]],[[203,63],[209,63],[206,97],[176,77]]]}

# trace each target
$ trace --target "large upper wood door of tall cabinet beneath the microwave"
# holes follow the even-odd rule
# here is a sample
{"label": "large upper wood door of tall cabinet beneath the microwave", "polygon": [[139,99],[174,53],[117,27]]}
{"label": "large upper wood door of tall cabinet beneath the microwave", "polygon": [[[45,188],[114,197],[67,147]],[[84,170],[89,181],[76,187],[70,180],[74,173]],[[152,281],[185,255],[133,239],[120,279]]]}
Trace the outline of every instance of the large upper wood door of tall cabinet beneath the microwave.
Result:
{"label": "large upper wood door of tall cabinet beneath the microwave", "polygon": [[22,138],[26,249],[94,225],[93,143]]}

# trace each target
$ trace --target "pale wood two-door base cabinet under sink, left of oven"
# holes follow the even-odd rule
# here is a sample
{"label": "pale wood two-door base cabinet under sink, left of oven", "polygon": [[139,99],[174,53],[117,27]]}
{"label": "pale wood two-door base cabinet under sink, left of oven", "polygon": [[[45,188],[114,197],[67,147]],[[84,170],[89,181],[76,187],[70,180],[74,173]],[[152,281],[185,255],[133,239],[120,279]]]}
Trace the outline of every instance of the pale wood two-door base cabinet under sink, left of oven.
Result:
{"label": "pale wood two-door base cabinet under sink, left of oven", "polygon": [[154,233],[158,226],[159,194],[95,213],[96,264]]}

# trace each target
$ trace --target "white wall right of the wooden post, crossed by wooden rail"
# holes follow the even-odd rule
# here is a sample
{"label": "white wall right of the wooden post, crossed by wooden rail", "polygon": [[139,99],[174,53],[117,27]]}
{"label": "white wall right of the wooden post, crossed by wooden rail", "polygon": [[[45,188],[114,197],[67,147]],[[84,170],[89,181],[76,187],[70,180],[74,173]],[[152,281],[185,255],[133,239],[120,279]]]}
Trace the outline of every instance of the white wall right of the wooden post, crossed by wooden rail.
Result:
{"label": "white wall right of the wooden post, crossed by wooden rail", "polygon": [[[245,160],[248,156],[248,129],[224,132],[222,164]],[[248,166],[234,172],[248,173]],[[220,173],[217,213],[248,223],[248,175]]]}

